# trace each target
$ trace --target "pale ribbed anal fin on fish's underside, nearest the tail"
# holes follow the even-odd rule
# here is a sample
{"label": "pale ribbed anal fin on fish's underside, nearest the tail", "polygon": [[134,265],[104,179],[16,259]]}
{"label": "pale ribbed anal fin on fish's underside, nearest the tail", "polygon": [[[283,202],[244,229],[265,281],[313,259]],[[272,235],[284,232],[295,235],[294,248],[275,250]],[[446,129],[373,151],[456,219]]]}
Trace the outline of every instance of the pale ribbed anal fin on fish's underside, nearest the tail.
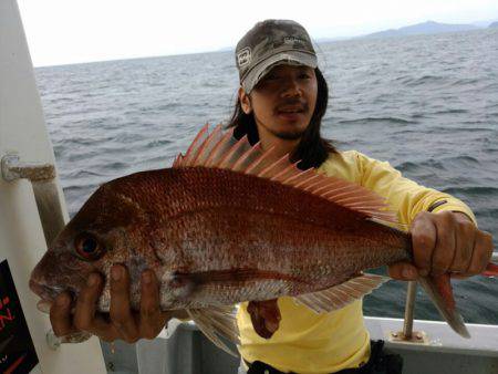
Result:
{"label": "pale ribbed anal fin on fish's underside, nearest the tail", "polygon": [[388,280],[387,277],[361,274],[323,291],[300,294],[294,297],[294,301],[315,313],[328,313],[351,304]]}

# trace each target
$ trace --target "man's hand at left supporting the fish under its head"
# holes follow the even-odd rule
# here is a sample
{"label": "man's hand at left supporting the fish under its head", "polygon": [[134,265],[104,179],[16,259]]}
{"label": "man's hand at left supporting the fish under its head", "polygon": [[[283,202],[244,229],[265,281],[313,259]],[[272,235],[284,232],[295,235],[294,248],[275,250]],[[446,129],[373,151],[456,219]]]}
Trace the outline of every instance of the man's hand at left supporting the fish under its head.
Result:
{"label": "man's hand at left supporting the fish under its head", "polygon": [[113,266],[110,281],[108,318],[96,312],[96,303],[104,285],[98,273],[90,274],[86,287],[81,290],[76,300],[74,314],[71,314],[71,297],[68,292],[55,299],[50,309],[50,321],[56,336],[85,331],[106,342],[121,339],[135,343],[142,337],[156,337],[173,316],[186,316],[181,311],[160,311],[159,285],[152,270],[142,273],[139,312],[132,311],[129,307],[129,276],[126,268]]}

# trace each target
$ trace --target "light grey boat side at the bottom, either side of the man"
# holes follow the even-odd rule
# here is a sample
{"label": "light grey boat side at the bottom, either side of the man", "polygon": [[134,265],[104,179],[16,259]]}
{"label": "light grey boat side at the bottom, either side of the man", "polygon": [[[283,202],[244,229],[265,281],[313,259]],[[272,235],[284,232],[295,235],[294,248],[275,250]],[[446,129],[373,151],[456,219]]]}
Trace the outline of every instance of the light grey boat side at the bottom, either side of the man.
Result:
{"label": "light grey boat side at the bottom, either side of the man", "polygon": [[[426,344],[390,341],[403,320],[366,318],[371,336],[386,341],[386,349],[404,357],[404,374],[498,374],[498,325],[467,324],[471,339],[456,335],[443,322],[415,321],[415,331],[427,334]],[[170,334],[169,337],[166,337]],[[110,373],[235,374],[239,360],[217,349],[194,323],[165,331],[153,341],[137,344],[103,343]]]}

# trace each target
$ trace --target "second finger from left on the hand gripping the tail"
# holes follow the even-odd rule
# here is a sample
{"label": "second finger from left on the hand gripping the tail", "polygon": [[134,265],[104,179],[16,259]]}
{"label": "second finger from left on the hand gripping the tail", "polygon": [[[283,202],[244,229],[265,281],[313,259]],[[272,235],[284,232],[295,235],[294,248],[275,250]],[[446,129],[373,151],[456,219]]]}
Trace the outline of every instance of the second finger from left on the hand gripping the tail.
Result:
{"label": "second finger from left on the hand gripping the tail", "polygon": [[456,247],[456,219],[452,211],[443,211],[434,215],[437,231],[436,246],[433,251],[432,271],[434,276],[440,276],[448,271],[455,257]]}

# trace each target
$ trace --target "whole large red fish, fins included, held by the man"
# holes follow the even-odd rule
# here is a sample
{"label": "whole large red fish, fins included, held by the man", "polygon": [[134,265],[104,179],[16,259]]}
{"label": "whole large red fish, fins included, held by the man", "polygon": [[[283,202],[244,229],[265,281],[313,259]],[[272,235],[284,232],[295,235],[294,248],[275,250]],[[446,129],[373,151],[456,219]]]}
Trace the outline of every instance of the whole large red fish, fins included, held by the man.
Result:
{"label": "whole large red fish, fins included, held by the man", "polygon": [[[139,276],[154,269],[162,308],[187,309],[222,345],[215,332],[238,335],[226,307],[251,301],[255,329],[269,337],[280,318],[271,300],[290,295],[328,312],[382,283],[362,270],[411,259],[409,236],[376,221],[392,220],[382,198],[271,159],[219,128],[203,132],[173,168],[103,185],[33,270],[32,290],[44,300],[64,289],[77,295],[90,272],[108,277],[123,263],[138,309]],[[465,335],[453,297],[444,301],[439,289],[436,304]],[[98,308],[108,307],[106,283]]]}

